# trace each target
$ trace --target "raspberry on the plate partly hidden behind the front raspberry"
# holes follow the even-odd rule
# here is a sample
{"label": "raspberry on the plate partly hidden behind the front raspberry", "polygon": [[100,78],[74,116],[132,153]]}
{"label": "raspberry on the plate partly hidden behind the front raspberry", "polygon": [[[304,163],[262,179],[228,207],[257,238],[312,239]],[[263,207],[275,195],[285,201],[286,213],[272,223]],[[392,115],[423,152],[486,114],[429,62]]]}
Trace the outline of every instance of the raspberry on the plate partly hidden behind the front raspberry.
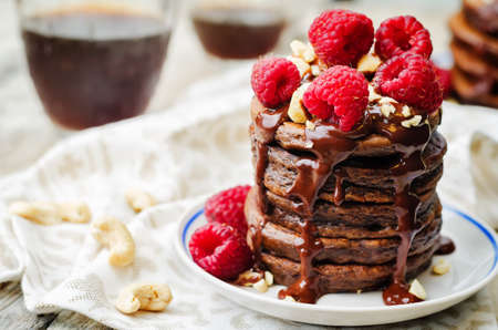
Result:
{"label": "raspberry on the plate partly hidden behind the front raspberry", "polygon": [[243,204],[250,186],[237,186],[211,196],[204,207],[209,223],[227,224],[246,237],[247,221]]}

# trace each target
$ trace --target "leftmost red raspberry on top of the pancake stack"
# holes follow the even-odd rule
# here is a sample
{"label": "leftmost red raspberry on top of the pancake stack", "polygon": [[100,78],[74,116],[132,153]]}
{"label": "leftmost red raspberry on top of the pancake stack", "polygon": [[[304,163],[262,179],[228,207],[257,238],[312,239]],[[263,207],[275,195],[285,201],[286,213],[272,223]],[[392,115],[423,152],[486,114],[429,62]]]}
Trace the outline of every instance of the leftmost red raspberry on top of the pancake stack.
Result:
{"label": "leftmost red raspberry on top of the pancake stack", "polygon": [[268,107],[289,101],[300,83],[298,66],[286,59],[261,59],[252,68],[252,91]]}

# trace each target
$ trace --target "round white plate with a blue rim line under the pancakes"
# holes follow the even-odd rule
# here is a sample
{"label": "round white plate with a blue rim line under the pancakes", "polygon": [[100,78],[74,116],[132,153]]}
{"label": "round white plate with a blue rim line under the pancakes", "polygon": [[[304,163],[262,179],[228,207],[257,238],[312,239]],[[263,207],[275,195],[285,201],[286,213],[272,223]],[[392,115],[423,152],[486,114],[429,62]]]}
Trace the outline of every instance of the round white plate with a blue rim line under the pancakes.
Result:
{"label": "round white plate with a blue rim line under the pancakes", "polygon": [[456,245],[452,255],[435,257],[447,259],[452,269],[444,276],[426,270],[418,277],[428,299],[404,306],[385,306],[381,291],[356,293],[329,293],[317,305],[282,301],[277,298],[281,286],[266,293],[253,288],[242,288],[224,282],[198,267],[188,252],[188,239],[196,228],[206,224],[203,206],[187,213],[179,223],[175,240],[181,260],[201,277],[214,290],[246,308],[286,320],[326,326],[373,326],[421,318],[463,301],[497,274],[498,246],[494,231],[449,206],[443,209],[443,234]]}

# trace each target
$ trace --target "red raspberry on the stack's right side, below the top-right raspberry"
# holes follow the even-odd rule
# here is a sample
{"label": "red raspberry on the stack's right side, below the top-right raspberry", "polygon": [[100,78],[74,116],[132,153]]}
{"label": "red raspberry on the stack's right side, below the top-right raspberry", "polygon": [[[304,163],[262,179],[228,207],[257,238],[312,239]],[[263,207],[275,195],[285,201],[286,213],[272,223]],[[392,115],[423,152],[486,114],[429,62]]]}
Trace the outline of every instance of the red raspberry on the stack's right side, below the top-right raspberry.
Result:
{"label": "red raspberry on the stack's right side, below the top-right raspberry", "polygon": [[443,102],[439,80],[433,64],[421,55],[394,56],[378,68],[375,91],[408,105],[433,112]]}

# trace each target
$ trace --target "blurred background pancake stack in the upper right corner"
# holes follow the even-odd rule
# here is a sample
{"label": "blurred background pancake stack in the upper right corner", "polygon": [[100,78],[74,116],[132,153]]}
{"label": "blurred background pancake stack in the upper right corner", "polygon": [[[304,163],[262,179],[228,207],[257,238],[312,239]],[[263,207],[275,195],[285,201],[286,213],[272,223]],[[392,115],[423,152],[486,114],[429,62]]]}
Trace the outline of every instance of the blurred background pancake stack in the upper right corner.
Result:
{"label": "blurred background pancake stack in the upper right corner", "polygon": [[449,27],[455,92],[464,102],[498,107],[498,0],[464,0]]}

